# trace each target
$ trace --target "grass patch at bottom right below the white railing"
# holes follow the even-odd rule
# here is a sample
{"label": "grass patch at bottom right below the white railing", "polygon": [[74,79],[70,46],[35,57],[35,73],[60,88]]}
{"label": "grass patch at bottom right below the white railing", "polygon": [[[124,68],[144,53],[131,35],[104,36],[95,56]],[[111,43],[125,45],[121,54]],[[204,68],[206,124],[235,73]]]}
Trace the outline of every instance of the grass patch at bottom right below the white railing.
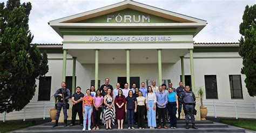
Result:
{"label": "grass patch at bottom right below the white railing", "polygon": [[256,120],[230,120],[230,119],[221,119],[221,123],[234,125],[236,127],[250,129],[256,131]]}

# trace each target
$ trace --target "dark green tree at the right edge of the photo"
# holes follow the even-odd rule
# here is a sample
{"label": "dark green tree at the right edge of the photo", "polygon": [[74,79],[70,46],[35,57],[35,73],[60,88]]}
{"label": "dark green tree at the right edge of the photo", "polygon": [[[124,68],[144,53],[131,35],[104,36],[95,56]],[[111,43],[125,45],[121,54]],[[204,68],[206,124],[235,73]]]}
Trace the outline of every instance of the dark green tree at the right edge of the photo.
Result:
{"label": "dark green tree at the right edge of the photo", "polygon": [[242,57],[244,67],[241,73],[246,76],[245,84],[251,97],[256,95],[256,5],[245,7],[240,24],[241,39],[239,40],[239,55]]}

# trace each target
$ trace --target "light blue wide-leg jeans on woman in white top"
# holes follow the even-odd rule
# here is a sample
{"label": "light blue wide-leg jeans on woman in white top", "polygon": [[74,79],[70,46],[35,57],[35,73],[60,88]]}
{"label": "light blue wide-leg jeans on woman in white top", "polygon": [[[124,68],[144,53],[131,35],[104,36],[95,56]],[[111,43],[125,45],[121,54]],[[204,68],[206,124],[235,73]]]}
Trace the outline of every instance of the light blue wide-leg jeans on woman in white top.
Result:
{"label": "light blue wide-leg jeans on woman in white top", "polygon": [[157,127],[157,121],[156,121],[156,109],[153,109],[154,107],[154,100],[147,101],[147,107],[149,107],[149,110],[147,110],[147,125],[149,127]]}

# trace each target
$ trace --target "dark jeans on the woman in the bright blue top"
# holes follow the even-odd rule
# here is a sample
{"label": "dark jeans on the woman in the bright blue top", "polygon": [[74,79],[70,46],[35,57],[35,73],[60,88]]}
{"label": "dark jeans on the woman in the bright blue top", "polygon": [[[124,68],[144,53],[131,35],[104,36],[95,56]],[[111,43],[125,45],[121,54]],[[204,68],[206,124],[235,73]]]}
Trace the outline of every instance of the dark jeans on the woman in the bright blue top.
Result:
{"label": "dark jeans on the woman in the bright blue top", "polygon": [[177,127],[177,118],[176,118],[176,113],[177,113],[177,104],[176,101],[174,102],[168,102],[168,111],[169,115],[171,117],[170,124],[171,127]]}

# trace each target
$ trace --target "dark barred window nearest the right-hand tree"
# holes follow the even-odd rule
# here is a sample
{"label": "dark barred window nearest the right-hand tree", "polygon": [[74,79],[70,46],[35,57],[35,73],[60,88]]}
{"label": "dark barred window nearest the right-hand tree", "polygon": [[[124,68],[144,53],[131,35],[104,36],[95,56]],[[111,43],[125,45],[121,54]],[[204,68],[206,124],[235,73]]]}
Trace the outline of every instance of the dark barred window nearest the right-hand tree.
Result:
{"label": "dark barred window nearest the right-hand tree", "polygon": [[241,75],[230,75],[231,98],[242,99]]}

